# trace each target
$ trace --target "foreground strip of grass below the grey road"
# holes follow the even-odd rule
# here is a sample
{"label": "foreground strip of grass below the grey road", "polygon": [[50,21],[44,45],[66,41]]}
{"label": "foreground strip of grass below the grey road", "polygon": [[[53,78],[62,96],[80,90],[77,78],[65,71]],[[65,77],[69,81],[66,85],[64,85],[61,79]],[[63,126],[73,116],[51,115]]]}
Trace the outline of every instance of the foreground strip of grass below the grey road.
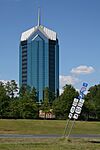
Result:
{"label": "foreground strip of grass below the grey road", "polygon": [[100,150],[100,143],[92,143],[90,139],[71,139],[71,140],[10,139],[7,141],[5,141],[4,139],[0,140],[0,150],[84,150],[84,149]]}

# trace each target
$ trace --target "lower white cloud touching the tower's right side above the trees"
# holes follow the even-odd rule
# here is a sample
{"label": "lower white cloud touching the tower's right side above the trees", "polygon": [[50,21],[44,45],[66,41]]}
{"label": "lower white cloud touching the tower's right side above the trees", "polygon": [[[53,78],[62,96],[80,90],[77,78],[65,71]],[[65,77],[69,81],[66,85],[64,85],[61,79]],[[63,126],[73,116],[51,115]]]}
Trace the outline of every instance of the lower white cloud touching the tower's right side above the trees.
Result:
{"label": "lower white cloud touching the tower's right side above the trees", "polygon": [[66,84],[75,85],[79,81],[80,80],[78,78],[70,75],[69,76],[60,75],[60,88],[64,87]]}

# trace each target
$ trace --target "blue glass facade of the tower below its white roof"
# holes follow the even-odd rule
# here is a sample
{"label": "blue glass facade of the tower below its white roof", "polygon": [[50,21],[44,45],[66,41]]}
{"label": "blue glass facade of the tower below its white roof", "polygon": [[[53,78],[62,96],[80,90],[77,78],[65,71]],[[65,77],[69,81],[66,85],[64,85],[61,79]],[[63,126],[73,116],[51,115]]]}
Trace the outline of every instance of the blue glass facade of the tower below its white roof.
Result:
{"label": "blue glass facade of the tower below its white roof", "polygon": [[43,90],[48,87],[59,91],[59,45],[37,29],[27,40],[20,42],[19,84],[35,87],[38,101],[43,100]]}

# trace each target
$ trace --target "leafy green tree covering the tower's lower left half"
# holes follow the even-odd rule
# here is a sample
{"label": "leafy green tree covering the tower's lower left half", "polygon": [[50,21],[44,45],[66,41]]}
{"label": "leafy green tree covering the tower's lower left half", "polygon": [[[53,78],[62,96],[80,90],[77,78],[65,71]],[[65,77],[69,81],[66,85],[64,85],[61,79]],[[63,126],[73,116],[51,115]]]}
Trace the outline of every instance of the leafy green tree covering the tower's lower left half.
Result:
{"label": "leafy green tree covering the tower's lower left half", "polygon": [[34,87],[31,89],[29,86],[22,86],[19,101],[20,118],[38,118],[37,92]]}

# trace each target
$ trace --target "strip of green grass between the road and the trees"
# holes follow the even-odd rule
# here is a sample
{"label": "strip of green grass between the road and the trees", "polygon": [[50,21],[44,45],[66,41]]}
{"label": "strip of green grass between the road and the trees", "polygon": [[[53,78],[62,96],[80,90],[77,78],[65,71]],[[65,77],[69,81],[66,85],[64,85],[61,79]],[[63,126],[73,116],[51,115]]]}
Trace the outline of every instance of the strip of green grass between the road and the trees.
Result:
{"label": "strip of green grass between the road and the trees", "polygon": [[[70,126],[71,126],[70,122]],[[63,134],[62,120],[0,120],[0,134]],[[72,133],[100,134],[100,122],[76,121]]]}

